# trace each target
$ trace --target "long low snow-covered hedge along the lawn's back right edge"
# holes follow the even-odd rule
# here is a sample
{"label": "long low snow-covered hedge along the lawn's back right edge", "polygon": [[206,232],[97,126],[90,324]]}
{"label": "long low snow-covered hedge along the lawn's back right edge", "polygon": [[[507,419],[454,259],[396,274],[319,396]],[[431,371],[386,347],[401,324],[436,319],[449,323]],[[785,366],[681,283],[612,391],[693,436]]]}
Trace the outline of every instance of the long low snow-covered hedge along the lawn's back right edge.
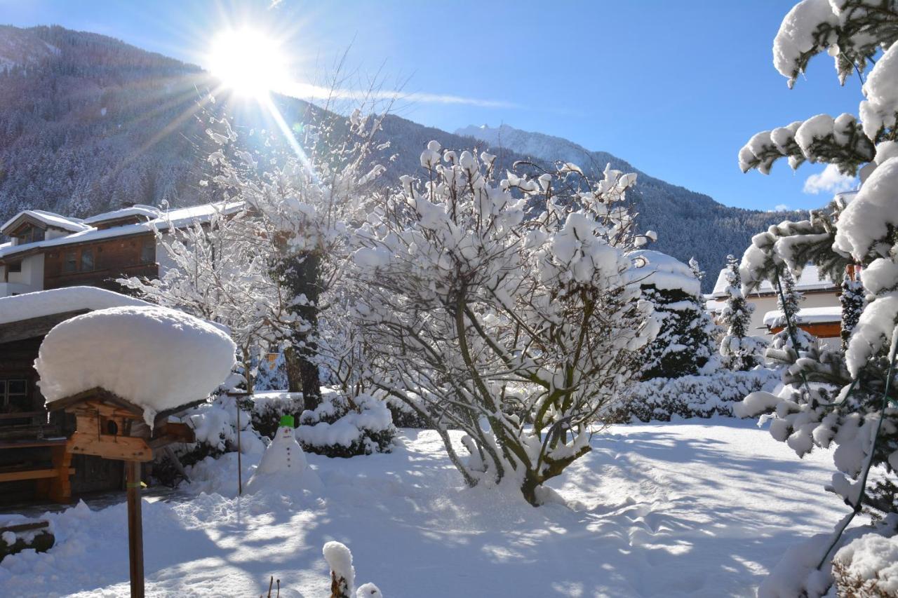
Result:
{"label": "long low snow-covered hedge along the lawn's back right edge", "polygon": [[772,391],[779,378],[779,371],[759,367],[748,372],[720,370],[704,376],[654,378],[634,383],[625,394],[623,409],[616,419],[669,421],[672,416],[732,416],[734,407],[745,395]]}

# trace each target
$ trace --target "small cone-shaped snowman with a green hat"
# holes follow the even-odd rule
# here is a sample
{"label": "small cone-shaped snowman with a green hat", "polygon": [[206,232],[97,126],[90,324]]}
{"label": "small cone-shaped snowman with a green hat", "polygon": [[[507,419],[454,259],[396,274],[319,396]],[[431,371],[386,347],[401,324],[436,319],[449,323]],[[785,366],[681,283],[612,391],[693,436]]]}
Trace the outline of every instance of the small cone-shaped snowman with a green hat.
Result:
{"label": "small cone-shaped snowman with a green hat", "polygon": [[274,439],[246,485],[247,492],[261,488],[281,488],[291,492],[321,489],[321,479],[309,467],[303,447],[296,442],[293,416],[281,418]]}

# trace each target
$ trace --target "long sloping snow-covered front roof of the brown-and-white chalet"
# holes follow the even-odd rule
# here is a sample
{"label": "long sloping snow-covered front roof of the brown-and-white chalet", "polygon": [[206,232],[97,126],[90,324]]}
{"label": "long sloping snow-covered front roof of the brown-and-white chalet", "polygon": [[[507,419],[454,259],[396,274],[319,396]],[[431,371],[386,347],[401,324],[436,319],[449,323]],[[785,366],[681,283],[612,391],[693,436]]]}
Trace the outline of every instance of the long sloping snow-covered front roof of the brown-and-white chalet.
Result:
{"label": "long sloping snow-covered front roof of the brown-and-white chalet", "polygon": [[150,233],[157,230],[164,231],[169,228],[170,221],[175,228],[181,228],[189,226],[190,224],[207,222],[212,215],[216,214],[216,212],[221,214],[233,214],[233,212],[236,212],[242,206],[242,202],[233,201],[194,207],[179,207],[168,210],[167,212],[162,212],[158,217],[145,223],[122,224],[121,226],[113,226],[112,228],[105,229],[84,226],[84,230],[78,233],[68,234],[65,237],[0,247],[0,258],[34,249],[58,247],[60,245],[71,245],[73,243],[101,241],[103,239],[124,237],[131,234]]}

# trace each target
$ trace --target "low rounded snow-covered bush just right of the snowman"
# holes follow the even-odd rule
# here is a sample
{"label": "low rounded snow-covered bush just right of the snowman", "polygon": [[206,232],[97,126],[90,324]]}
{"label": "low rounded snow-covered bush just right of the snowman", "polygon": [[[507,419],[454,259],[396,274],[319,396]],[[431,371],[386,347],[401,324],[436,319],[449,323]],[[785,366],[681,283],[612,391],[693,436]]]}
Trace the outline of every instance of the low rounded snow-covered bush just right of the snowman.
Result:
{"label": "low rounded snow-covered bush just right of the snowman", "polygon": [[390,409],[370,394],[352,399],[337,391],[324,391],[321,405],[299,418],[296,437],[309,453],[329,457],[392,451],[396,428]]}

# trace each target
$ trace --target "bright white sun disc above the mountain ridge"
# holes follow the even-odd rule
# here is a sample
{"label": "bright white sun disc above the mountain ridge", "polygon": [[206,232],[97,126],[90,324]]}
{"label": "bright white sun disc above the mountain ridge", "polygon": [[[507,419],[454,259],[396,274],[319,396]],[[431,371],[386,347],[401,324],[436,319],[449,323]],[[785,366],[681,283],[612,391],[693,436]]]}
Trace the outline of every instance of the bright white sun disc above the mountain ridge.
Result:
{"label": "bright white sun disc above the mountain ridge", "polygon": [[209,54],[212,74],[243,95],[261,97],[287,82],[284,55],[275,40],[260,31],[221,31]]}

